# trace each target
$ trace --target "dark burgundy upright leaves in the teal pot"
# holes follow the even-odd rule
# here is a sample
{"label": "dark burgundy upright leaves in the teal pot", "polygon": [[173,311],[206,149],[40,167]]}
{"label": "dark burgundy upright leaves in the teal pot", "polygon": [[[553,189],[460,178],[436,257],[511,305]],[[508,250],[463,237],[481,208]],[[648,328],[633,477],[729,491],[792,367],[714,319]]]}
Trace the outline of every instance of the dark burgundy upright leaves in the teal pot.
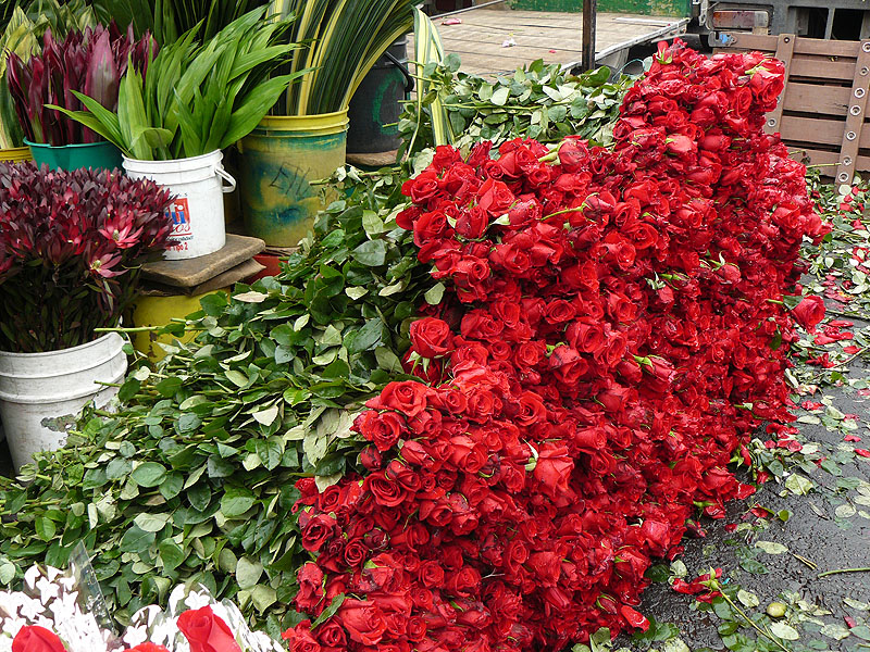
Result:
{"label": "dark burgundy upright leaves in the teal pot", "polygon": [[135,74],[145,72],[154,49],[150,35],[137,41],[133,27],[122,35],[111,23],[108,29],[98,25],[71,32],[63,41],[54,40],[49,29],[42,37],[41,54],[26,61],[11,52],[7,83],[25,138],[55,147],[101,140],[47,105],[80,110],[82,102],[75,95],[80,91],[104,110],[115,111],[119,83],[127,66]]}

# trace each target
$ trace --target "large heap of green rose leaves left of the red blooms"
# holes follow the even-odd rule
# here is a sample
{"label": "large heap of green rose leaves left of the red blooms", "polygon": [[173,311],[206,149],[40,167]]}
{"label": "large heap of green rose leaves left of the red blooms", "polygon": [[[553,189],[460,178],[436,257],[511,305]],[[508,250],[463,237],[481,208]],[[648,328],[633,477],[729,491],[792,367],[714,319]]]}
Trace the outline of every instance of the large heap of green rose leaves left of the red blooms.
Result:
{"label": "large heap of green rose leaves left of the red blooms", "polygon": [[0,481],[0,578],[63,566],[84,540],[121,622],[191,579],[272,634],[289,625],[303,559],[294,482],[356,468],[355,413],[401,377],[407,321],[430,285],[397,211],[376,210],[397,187],[377,179],[333,204],[279,277],[204,298],[167,327],[197,341],[132,374],[126,406]]}

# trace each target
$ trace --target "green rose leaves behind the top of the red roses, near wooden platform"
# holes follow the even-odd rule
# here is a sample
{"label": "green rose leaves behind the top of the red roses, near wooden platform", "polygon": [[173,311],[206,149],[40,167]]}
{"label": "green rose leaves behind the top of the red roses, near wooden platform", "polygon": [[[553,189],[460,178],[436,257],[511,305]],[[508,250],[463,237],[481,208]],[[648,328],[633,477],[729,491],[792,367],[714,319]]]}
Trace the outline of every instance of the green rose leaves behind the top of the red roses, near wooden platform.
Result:
{"label": "green rose leaves behind the top of the red roses, near wooden platform", "polygon": [[459,57],[448,54],[444,64],[421,67],[426,93],[406,104],[400,117],[403,151],[445,145],[434,138],[427,117],[440,110],[433,108],[436,101],[447,112],[450,142],[459,149],[480,140],[498,147],[517,136],[545,143],[580,136],[609,145],[622,96],[635,79],[611,79],[607,67],[571,75],[558,64],[545,66],[540,59],[495,79],[462,73],[459,65]]}

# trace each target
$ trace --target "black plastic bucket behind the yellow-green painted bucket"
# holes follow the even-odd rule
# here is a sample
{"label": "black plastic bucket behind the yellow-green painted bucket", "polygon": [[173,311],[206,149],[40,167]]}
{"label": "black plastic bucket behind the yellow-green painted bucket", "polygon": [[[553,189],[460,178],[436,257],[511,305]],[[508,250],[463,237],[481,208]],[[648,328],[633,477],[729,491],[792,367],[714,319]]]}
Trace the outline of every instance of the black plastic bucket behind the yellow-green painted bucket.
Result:
{"label": "black plastic bucket behind the yellow-green painted bucket", "polygon": [[348,111],[347,153],[373,154],[398,149],[396,123],[401,103],[413,88],[406,43],[405,37],[393,43],[353,93]]}

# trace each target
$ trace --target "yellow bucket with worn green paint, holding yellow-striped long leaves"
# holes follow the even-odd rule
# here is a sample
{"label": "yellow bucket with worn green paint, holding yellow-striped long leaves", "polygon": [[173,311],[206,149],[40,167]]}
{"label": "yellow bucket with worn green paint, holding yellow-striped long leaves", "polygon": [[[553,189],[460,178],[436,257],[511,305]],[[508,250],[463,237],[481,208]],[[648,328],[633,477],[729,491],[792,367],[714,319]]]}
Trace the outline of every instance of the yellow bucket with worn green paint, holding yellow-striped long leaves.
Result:
{"label": "yellow bucket with worn green paint, holding yellow-striped long leaves", "polygon": [[294,247],[311,229],[321,199],[311,181],[345,164],[347,111],[268,116],[239,143],[245,226],[272,247]]}

